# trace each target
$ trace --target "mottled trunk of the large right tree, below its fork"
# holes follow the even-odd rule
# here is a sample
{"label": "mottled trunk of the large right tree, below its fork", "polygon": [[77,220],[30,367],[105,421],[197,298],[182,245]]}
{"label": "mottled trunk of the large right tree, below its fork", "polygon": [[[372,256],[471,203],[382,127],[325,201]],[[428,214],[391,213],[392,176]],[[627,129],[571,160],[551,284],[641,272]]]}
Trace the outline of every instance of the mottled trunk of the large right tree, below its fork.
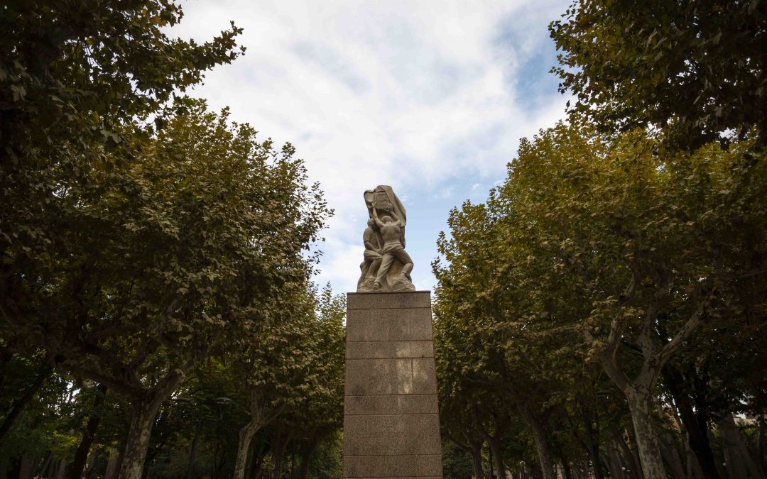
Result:
{"label": "mottled trunk of the large right tree, below its fork", "polygon": [[627,387],[624,395],[628,402],[631,422],[634,424],[634,439],[637,441],[637,453],[644,479],[667,479],[660,455],[658,435],[653,427],[650,393]]}

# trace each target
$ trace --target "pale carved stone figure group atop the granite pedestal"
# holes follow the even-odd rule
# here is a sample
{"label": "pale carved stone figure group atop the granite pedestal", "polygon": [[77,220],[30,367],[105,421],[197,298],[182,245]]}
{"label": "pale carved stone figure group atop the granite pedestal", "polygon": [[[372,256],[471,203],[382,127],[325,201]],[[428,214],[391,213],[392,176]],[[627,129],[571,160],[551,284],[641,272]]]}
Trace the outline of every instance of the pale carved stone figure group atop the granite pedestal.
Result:
{"label": "pale carved stone figure group atop the granite pedestal", "polygon": [[362,235],[365,252],[357,292],[416,290],[410,279],[413,260],[405,251],[407,215],[400,198],[388,185],[369,189],[363,197],[369,219]]}

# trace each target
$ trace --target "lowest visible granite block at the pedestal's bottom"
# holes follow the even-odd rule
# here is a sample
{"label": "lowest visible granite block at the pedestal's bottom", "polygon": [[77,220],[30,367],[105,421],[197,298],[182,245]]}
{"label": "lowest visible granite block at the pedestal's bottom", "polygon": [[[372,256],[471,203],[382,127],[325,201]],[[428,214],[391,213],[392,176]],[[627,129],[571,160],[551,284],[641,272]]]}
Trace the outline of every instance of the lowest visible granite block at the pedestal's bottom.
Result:
{"label": "lowest visible granite block at the pedestal's bottom", "polygon": [[344,477],[419,476],[442,477],[442,455],[344,456]]}

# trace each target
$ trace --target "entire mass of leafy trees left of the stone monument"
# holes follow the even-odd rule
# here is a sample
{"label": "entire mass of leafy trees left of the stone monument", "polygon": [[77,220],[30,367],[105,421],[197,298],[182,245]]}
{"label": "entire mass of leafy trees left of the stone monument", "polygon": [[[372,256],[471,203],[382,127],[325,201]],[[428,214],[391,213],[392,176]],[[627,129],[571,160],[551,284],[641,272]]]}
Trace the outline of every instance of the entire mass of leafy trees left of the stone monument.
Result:
{"label": "entire mass of leafy trees left of the stone monument", "polygon": [[2,6],[0,477],[306,477],[321,441],[335,475],[332,212],[292,146],[183,96],[244,50],[181,18]]}

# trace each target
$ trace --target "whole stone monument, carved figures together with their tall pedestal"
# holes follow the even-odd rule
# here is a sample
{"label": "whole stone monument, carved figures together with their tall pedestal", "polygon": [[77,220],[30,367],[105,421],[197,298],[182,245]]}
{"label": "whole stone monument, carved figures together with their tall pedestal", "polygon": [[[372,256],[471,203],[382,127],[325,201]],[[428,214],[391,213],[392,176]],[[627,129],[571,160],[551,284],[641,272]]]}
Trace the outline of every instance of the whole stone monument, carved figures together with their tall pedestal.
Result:
{"label": "whole stone monument, carved figures together with their tall pedestal", "polygon": [[410,281],[397,195],[380,185],[364,198],[362,275],[347,297],[344,477],[442,479],[430,293]]}

